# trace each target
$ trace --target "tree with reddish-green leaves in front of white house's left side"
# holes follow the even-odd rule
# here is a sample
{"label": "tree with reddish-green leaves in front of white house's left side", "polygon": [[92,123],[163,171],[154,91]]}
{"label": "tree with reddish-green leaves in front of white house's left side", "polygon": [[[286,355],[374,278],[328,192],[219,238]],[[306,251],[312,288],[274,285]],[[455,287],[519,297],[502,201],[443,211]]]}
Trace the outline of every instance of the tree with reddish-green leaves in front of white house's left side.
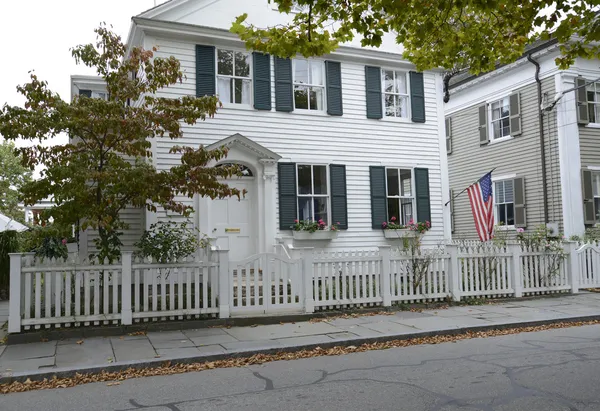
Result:
{"label": "tree with reddish-green leaves in front of white house's left side", "polygon": [[[96,44],[71,52],[78,64],[95,68],[105,80],[108,98],[77,96],[64,101],[32,73],[29,83],[17,87],[25,96],[24,107],[5,105],[0,111],[0,133],[34,142],[19,149],[23,163],[31,169],[45,166],[39,180],[24,185],[25,204],[51,196],[55,205],[46,217],[97,229],[98,256],[113,259],[119,252],[119,230],[125,228],[119,216],[124,208],[156,211],[161,206],[187,215],[191,208],[177,196],[223,198],[242,193],[218,180],[237,173],[235,167],[207,166],[226,156],[226,148],[175,146],[171,153],[180,155],[181,163],[170,170],[154,167],[149,161],[151,140],[181,138],[183,123],[193,125],[214,116],[218,99],[157,96],[157,91],[182,81],[179,61],[155,57],[156,48],[128,51],[105,25],[95,32]],[[60,133],[71,137],[68,144],[42,145]]]}

